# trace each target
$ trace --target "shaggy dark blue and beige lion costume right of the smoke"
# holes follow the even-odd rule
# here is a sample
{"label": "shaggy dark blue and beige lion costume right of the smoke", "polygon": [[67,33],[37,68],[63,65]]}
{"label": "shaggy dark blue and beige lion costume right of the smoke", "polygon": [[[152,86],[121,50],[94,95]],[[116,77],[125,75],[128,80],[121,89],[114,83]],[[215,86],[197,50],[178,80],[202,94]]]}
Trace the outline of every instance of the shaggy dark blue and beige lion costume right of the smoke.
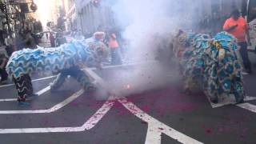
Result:
{"label": "shaggy dark blue and beige lion costume right of the smoke", "polygon": [[243,102],[245,91],[242,66],[238,61],[236,39],[226,32],[210,38],[208,34],[178,34],[174,40],[176,55],[186,82],[202,83],[206,96],[214,103],[220,96],[234,94],[236,102]]}

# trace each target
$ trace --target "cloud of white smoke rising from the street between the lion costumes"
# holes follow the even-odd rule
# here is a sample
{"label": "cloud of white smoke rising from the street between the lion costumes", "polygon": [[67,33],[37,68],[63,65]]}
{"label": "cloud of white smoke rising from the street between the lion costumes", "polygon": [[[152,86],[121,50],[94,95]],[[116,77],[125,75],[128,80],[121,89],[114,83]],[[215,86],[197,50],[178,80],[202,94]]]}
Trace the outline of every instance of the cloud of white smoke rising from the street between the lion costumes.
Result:
{"label": "cloud of white smoke rising from the street between the lion costumes", "polygon": [[[129,43],[128,57],[138,62],[154,60],[162,39],[170,41],[178,29],[191,29],[197,16],[188,0],[115,0],[109,1],[122,37]],[[189,3],[191,4],[189,4]],[[195,3],[195,2],[194,2]],[[185,4],[185,5],[184,5]],[[190,6],[188,6],[190,5]],[[160,44],[160,45],[159,45]],[[167,49],[170,47],[166,47]],[[171,62],[170,62],[171,64]],[[172,69],[174,69],[172,67]],[[169,70],[169,71],[168,71]],[[122,94],[150,90],[177,81],[178,74],[164,66],[136,66],[134,70],[114,70],[110,86]]]}

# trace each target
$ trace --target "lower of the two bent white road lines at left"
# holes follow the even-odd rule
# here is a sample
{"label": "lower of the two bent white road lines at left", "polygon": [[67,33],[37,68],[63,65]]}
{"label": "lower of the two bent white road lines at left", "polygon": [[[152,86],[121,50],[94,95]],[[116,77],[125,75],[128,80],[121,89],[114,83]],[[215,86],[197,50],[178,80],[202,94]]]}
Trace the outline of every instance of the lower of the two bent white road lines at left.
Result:
{"label": "lower of the two bent white road lines at left", "polygon": [[47,127],[47,128],[22,128],[22,129],[0,129],[0,134],[28,134],[28,133],[67,133],[82,132],[90,130],[103,118],[105,114],[114,106],[113,101],[107,101],[92,115],[88,121],[78,127]]}

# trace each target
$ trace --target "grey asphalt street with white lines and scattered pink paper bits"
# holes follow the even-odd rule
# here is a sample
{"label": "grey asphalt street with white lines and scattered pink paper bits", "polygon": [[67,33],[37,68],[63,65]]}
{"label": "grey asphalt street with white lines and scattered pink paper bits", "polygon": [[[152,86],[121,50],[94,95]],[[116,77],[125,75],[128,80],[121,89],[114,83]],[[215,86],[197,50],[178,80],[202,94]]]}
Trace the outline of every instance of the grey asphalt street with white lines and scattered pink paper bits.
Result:
{"label": "grey asphalt street with white lines and scattered pink paper bits", "polygon": [[[251,111],[235,105],[212,108],[202,93],[183,94],[177,73],[165,70],[160,75],[170,81],[161,85],[154,77],[157,70],[126,66],[92,71],[120,99],[83,93],[72,78],[52,94],[47,86],[54,78],[34,75],[43,78],[34,81],[41,95],[31,106],[19,107],[10,99],[15,98],[14,86],[0,87],[0,144],[256,143],[254,107]],[[252,97],[255,75],[245,76],[246,92]],[[142,82],[146,78],[146,83],[158,86],[146,85]],[[138,79],[143,87],[134,85]],[[1,102],[4,99],[10,101]],[[256,106],[256,101],[248,103]]]}

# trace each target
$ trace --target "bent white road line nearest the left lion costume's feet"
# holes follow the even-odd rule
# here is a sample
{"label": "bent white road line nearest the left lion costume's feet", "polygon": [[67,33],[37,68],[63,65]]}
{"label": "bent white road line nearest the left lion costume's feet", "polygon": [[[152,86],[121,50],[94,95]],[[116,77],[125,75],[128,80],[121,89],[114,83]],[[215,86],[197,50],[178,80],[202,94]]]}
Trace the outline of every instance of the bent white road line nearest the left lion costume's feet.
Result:
{"label": "bent white road line nearest the left lion costume's feet", "polygon": [[62,107],[68,105],[70,102],[73,102],[76,98],[80,97],[84,93],[84,90],[79,90],[70,98],[66,98],[63,102],[58,103],[57,105],[46,110],[0,110],[0,114],[44,114],[44,113],[53,113],[61,109]]}

